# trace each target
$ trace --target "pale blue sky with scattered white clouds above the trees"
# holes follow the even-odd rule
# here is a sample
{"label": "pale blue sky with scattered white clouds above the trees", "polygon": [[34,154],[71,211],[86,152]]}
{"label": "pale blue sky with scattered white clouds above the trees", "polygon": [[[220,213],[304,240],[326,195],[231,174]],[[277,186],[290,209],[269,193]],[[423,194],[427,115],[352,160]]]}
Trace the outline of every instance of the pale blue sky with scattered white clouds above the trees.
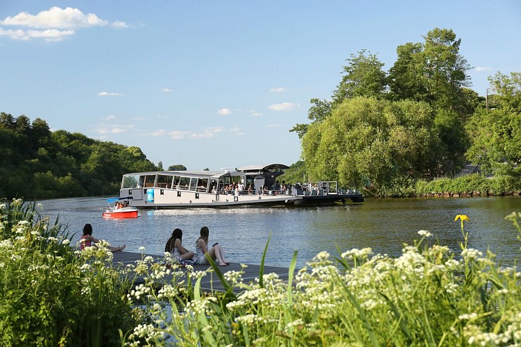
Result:
{"label": "pale blue sky with scattered white clouds above the trees", "polygon": [[164,167],[293,164],[311,98],[345,59],[388,70],[396,47],[452,28],[487,77],[521,71],[521,1],[46,1],[0,3],[0,111],[139,146]]}

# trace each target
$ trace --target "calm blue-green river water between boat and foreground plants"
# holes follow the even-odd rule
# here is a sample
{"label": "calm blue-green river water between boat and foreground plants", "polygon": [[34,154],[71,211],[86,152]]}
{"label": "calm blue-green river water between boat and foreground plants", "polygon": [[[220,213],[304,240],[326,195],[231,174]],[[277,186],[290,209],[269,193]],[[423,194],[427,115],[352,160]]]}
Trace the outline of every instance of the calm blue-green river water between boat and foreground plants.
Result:
{"label": "calm blue-green river water between boat and foreground plants", "polygon": [[[40,201],[43,214],[60,215],[78,241],[85,223],[93,236],[126,251],[162,254],[173,228],[183,230],[183,244],[194,251],[201,226],[210,228],[210,244],[219,242],[232,262],[259,264],[272,233],[266,264],[289,266],[298,251],[304,266],[320,251],[338,255],[351,248],[373,248],[373,253],[400,255],[404,243],[418,239],[418,230],[429,230],[441,244],[459,250],[461,228],[456,214],[467,214],[472,248],[487,247],[507,263],[519,257],[521,242],[504,217],[521,211],[520,196],[490,198],[366,199],[362,205],[320,208],[235,208],[194,210],[140,210],[137,219],[105,220],[105,198]],[[52,220],[52,219],[51,219]]]}

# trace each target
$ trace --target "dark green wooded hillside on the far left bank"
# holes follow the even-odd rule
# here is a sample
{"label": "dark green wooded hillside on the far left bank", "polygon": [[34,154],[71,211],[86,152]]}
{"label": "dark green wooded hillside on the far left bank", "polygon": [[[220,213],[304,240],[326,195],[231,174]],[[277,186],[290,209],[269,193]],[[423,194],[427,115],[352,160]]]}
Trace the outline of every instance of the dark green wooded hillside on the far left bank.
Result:
{"label": "dark green wooded hillside on the far left bank", "polygon": [[43,119],[0,114],[0,196],[55,198],[117,194],[121,176],[157,167],[136,146],[51,131]]}

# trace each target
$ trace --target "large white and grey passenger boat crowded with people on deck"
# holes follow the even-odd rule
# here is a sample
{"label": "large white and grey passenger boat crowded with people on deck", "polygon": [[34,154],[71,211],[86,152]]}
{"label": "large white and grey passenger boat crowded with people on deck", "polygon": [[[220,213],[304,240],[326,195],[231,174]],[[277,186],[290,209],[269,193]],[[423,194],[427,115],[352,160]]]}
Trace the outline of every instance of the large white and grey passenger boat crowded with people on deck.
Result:
{"label": "large white and grey passenger boat crowded with people on deck", "polygon": [[[240,205],[327,205],[362,203],[357,189],[336,181],[280,182],[284,164],[221,171],[150,171],[123,175],[119,196],[138,209],[219,208]],[[232,188],[230,188],[232,187]]]}

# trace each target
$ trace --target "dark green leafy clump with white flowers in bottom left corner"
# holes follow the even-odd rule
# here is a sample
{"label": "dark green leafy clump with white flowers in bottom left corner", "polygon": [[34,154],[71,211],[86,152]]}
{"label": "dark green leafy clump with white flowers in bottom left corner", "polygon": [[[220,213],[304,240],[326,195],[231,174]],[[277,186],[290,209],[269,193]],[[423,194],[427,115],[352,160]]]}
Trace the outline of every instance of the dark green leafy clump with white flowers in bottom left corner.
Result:
{"label": "dark green leafy clump with white flowers in bottom left corner", "polygon": [[34,204],[0,201],[0,345],[119,344],[137,317],[111,259],[103,246],[75,253]]}

